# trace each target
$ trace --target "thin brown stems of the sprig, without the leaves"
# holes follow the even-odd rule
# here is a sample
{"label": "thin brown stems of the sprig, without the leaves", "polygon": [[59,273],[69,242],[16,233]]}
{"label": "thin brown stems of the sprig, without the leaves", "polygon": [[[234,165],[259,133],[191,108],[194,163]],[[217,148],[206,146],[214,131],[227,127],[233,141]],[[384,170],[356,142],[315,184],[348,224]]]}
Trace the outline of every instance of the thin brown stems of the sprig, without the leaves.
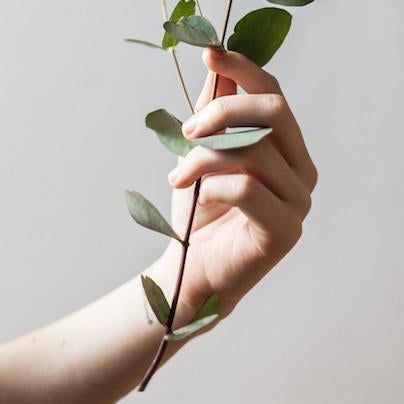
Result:
{"label": "thin brown stems of the sprig, without the leaves", "polygon": [[[166,5],[165,5],[165,0],[162,0],[162,4],[163,4],[163,9],[165,9],[165,13],[167,14],[167,8],[166,8]],[[224,22],[224,25],[223,25],[223,32],[222,32],[222,38],[221,38],[222,44],[224,44],[224,40],[225,40],[225,37],[226,37],[226,32],[227,32],[227,27],[228,27],[228,24],[229,24],[229,17],[230,17],[232,4],[233,4],[233,0],[227,0],[225,22]],[[176,60],[176,58],[175,58],[175,60]],[[178,61],[176,61],[176,65],[179,67]],[[179,70],[179,72],[181,73],[180,70]],[[182,78],[182,75],[180,73],[179,73],[179,76],[180,76],[180,78]],[[219,76],[216,74],[215,75],[215,80],[214,80],[214,86],[213,86],[212,100],[215,99],[216,95],[217,95],[218,82],[219,82],[218,77]],[[180,81],[181,81],[181,85],[183,86],[183,88],[185,88],[185,85],[183,84],[184,81],[183,80],[180,80]],[[191,109],[193,111],[192,104],[191,103],[189,103],[189,104],[191,105]],[[195,218],[196,205],[198,203],[201,183],[202,183],[202,178],[198,178],[198,180],[195,183],[195,187],[194,187],[194,195],[193,195],[192,207],[191,207],[191,212],[190,212],[189,219],[188,219],[185,238],[184,238],[184,241],[182,242],[182,247],[183,248],[182,248],[181,262],[180,262],[180,267],[179,267],[178,276],[177,276],[177,282],[176,282],[175,290],[174,290],[174,294],[173,294],[173,300],[172,300],[172,303],[171,303],[170,314],[169,314],[167,325],[166,325],[165,335],[164,335],[163,339],[160,342],[160,345],[159,345],[157,353],[156,353],[156,355],[155,355],[155,357],[153,359],[153,362],[151,363],[151,365],[150,365],[149,369],[147,370],[145,376],[143,377],[142,381],[140,382],[139,391],[144,391],[146,389],[146,387],[149,384],[151,378],[153,377],[154,373],[158,369],[158,367],[160,365],[160,362],[163,359],[164,353],[165,353],[166,348],[167,348],[168,341],[165,339],[165,336],[172,332],[175,313],[176,313],[176,310],[177,310],[178,300],[179,300],[180,292],[181,292],[182,281],[183,281],[183,278],[184,278],[185,263],[186,263],[186,259],[187,259],[188,248],[189,248],[189,239],[191,237],[192,225],[193,225],[194,218]]]}

